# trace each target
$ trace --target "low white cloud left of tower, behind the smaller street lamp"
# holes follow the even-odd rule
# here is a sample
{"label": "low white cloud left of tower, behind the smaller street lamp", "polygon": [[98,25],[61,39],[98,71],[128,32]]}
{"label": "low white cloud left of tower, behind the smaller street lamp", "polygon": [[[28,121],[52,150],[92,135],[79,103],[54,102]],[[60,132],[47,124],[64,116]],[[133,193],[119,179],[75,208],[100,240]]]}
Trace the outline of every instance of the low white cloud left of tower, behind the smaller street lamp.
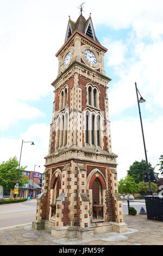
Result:
{"label": "low white cloud left of tower, behind the smaller street lamp", "polygon": [[22,139],[24,142],[34,141],[35,145],[23,143],[21,166],[27,166],[27,170],[33,170],[35,164],[40,165],[40,168],[36,167],[35,170],[41,173],[44,172],[44,157],[48,154],[49,146],[49,127],[46,124],[34,124],[26,132],[21,134],[21,139],[1,137],[0,163],[7,161],[9,157],[14,157],[15,155],[19,161]]}

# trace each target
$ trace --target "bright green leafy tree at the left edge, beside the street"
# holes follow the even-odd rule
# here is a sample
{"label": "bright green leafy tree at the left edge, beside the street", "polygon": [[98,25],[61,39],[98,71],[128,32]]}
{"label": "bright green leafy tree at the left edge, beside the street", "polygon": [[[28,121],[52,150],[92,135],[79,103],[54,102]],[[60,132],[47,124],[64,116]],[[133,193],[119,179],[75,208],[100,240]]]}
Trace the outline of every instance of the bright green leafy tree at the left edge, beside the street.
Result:
{"label": "bright green leafy tree at the left edge, beside the street", "polygon": [[[27,168],[20,167],[20,172],[18,175],[18,185],[24,186],[29,182],[27,177],[24,177],[22,173]],[[18,161],[16,156],[10,157],[6,162],[0,164],[0,185],[3,187],[3,190],[14,190],[14,186],[17,180],[18,173]]]}

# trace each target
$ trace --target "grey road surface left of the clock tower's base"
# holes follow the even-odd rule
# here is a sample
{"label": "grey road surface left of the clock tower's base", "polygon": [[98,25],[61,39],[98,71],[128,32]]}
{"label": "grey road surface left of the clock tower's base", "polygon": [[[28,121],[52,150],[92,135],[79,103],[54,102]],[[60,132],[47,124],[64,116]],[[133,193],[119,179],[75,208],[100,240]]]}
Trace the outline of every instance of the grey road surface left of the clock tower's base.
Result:
{"label": "grey road surface left of the clock tower's base", "polygon": [[35,220],[36,199],[0,205],[0,228],[30,223]]}

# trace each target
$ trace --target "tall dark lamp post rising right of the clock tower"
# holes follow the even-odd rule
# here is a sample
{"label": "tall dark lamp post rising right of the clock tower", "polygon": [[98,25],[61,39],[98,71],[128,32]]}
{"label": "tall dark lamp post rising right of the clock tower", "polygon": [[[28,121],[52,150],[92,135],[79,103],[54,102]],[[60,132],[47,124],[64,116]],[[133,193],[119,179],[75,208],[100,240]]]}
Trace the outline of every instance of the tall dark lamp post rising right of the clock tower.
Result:
{"label": "tall dark lamp post rising right of the clock tower", "polygon": [[[143,137],[143,144],[144,144],[145,156],[146,156],[147,173],[148,173],[148,181],[149,181],[149,193],[152,196],[153,195],[153,191],[152,191],[151,180],[150,180],[150,175],[149,175],[150,173],[149,173],[149,167],[148,167],[147,150],[146,150],[146,144],[145,144],[145,136],[144,136],[144,133],[143,133],[143,126],[142,126],[142,119],[141,119],[141,112],[140,112],[140,104],[139,104],[139,103],[145,102],[146,100],[143,99],[143,97],[141,96],[139,90],[137,89],[136,82],[135,82],[135,88],[136,88],[137,104],[138,104],[138,107],[139,107],[139,115],[140,115],[140,123],[141,123],[141,131],[142,131],[142,137]],[[138,93],[140,95],[140,100],[139,100],[139,97],[138,97]]]}

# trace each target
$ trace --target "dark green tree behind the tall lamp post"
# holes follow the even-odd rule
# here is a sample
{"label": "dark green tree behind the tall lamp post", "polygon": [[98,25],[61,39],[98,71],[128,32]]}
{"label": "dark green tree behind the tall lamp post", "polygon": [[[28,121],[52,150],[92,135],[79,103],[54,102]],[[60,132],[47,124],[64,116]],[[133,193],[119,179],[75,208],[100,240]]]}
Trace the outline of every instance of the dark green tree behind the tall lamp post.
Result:
{"label": "dark green tree behind the tall lamp post", "polygon": [[[152,164],[148,163],[149,172],[152,172],[154,174],[155,180],[158,179],[159,173],[154,172],[154,168],[152,167]],[[133,177],[134,181],[139,184],[139,182],[143,181],[143,172],[147,172],[147,163],[145,160],[135,161],[130,167],[129,170],[127,170],[127,174]]]}

